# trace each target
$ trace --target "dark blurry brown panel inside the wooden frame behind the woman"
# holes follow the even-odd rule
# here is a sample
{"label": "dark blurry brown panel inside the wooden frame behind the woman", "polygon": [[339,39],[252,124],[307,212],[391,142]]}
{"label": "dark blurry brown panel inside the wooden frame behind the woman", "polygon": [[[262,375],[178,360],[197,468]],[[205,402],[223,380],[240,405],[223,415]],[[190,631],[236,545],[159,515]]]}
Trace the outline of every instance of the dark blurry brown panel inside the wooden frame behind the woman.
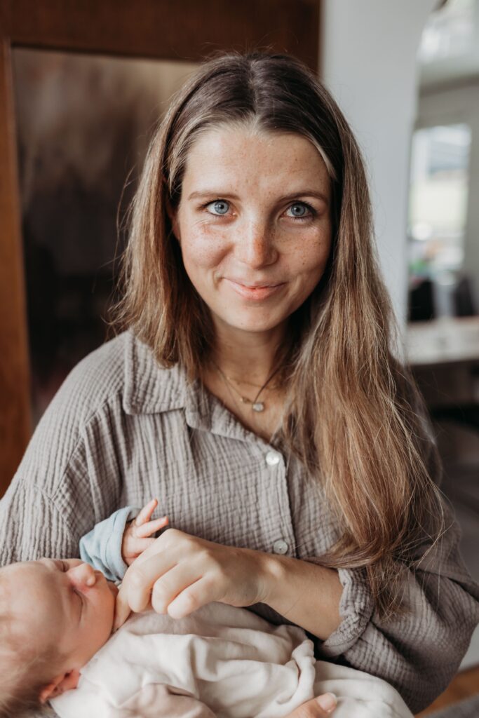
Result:
{"label": "dark blurry brown panel inside the wooden frame behind the woman", "polygon": [[105,341],[148,142],[195,67],[13,52],[33,424],[70,369]]}

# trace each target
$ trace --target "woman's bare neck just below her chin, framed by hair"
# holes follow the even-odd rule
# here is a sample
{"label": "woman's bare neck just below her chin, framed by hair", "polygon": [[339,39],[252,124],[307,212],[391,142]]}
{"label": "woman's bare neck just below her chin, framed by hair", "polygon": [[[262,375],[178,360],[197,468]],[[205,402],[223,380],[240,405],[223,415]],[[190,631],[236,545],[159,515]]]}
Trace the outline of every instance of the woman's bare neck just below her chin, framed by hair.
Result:
{"label": "woman's bare neck just below her chin, framed by hair", "polygon": [[259,385],[274,370],[274,359],[285,335],[285,326],[267,332],[243,332],[234,327],[215,326],[213,360],[228,376]]}

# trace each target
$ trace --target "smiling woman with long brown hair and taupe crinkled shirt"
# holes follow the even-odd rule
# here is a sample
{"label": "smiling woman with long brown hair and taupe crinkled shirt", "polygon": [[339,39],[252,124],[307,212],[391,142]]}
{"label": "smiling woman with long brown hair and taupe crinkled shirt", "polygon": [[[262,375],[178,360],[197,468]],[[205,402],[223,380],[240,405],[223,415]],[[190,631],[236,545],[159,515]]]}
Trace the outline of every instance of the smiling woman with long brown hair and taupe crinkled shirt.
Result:
{"label": "smiling woman with long brown hair and taupe crinkled shirt", "polygon": [[94,523],[158,495],[175,528],[130,569],[119,620],[150,590],[174,617],[248,605],[429,704],[478,590],[391,353],[358,147],[298,62],[225,55],[177,95],[117,321],[128,331],[75,368],[1,502],[1,563],[75,556]]}

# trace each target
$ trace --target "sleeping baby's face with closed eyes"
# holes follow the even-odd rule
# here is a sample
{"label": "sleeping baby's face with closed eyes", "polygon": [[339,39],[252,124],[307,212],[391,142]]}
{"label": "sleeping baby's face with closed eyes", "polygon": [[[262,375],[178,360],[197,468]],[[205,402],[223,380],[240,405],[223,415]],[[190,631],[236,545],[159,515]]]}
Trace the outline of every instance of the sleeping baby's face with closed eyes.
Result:
{"label": "sleeping baby's face with closed eyes", "polygon": [[65,671],[81,668],[108,640],[116,586],[78,559],[41,559],[2,569],[9,572],[9,607],[26,640],[55,645],[68,656]]}

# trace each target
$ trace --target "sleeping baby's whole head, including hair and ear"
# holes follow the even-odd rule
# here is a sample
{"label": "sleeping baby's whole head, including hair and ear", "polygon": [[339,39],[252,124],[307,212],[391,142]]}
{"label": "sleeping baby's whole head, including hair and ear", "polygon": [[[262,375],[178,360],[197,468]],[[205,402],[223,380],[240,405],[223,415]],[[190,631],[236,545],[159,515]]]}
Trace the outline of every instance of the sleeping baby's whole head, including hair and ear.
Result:
{"label": "sleeping baby's whole head, including hair and ear", "polygon": [[75,688],[108,640],[116,586],[78,559],[0,569],[0,718]]}

